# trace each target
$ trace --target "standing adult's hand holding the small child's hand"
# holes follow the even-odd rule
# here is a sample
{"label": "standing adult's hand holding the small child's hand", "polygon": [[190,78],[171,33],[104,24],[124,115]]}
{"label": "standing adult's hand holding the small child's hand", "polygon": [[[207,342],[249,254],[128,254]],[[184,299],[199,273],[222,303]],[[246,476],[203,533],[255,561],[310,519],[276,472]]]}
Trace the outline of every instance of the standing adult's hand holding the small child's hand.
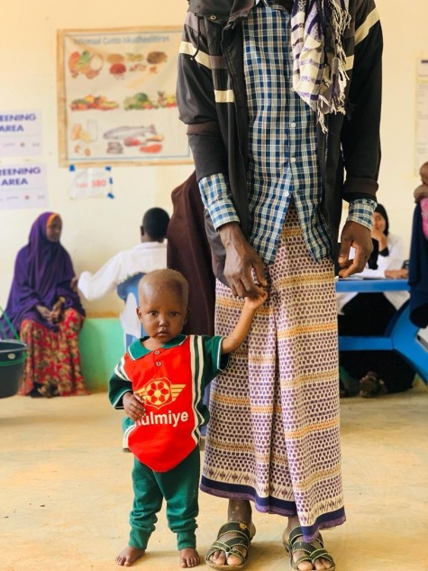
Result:
{"label": "standing adult's hand holding the small child's hand", "polygon": [[219,233],[226,250],[224,276],[232,295],[239,298],[260,296],[267,286],[260,255],[247,242],[237,222],[221,226]]}

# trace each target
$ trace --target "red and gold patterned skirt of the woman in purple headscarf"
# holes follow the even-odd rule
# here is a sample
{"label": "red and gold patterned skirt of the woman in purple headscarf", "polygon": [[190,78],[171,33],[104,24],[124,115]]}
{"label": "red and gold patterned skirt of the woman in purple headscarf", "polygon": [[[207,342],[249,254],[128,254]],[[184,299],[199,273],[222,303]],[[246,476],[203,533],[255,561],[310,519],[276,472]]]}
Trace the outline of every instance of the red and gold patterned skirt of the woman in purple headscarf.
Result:
{"label": "red and gold patterned skirt of the woman in purple headscarf", "polygon": [[21,324],[21,340],[28,345],[23,379],[18,394],[40,390],[45,396],[88,394],[83,383],[78,350],[78,332],[83,317],[66,309],[57,331],[31,319]]}

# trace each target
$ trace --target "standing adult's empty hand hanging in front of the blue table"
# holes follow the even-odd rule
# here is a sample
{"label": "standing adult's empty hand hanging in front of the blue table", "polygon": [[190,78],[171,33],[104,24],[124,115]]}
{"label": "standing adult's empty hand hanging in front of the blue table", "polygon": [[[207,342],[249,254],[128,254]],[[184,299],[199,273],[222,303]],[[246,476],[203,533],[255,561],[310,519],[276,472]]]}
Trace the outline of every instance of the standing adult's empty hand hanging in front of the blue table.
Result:
{"label": "standing adult's empty hand hanging in front of the blue table", "polygon": [[[353,260],[350,260],[351,246],[355,248]],[[373,244],[369,228],[357,222],[346,222],[341,231],[341,248],[338,256],[341,278],[348,278],[353,273],[362,272],[372,251]]]}

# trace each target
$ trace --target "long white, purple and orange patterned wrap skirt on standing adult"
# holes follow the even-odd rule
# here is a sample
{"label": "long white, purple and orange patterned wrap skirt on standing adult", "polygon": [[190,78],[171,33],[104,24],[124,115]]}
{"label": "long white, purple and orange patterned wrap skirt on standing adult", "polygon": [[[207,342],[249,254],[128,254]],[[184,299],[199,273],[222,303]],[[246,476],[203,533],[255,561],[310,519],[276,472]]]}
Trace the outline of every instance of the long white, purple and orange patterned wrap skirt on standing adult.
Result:
{"label": "long white, purple and orange patterned wrap skirt on standing adult", "polygon": [[[337,314],[332,262],[314,262],[287,213],[269,299],[212,383],[201,489],[297,515],[305,539],[345,520],[341,486]],[[217,283],[216,333],[241,299]]]}

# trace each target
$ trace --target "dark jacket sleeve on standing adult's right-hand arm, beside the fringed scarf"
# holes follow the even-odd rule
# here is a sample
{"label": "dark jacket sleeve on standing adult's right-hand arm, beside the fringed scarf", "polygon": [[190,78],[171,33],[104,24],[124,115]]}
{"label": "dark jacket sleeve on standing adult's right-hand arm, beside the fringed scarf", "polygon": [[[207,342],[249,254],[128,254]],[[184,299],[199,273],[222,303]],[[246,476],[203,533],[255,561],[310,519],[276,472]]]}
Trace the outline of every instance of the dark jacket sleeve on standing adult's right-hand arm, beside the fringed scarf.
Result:
{"label": "dark jacket sleeve on standing adult's right-hand arm, beside the fringed scarf", "polygon": [[382,30],[373,0],[356,0],[355,52],[347,115],[341,131],[346,169],[344,197],[376,199],[380,162]]}

